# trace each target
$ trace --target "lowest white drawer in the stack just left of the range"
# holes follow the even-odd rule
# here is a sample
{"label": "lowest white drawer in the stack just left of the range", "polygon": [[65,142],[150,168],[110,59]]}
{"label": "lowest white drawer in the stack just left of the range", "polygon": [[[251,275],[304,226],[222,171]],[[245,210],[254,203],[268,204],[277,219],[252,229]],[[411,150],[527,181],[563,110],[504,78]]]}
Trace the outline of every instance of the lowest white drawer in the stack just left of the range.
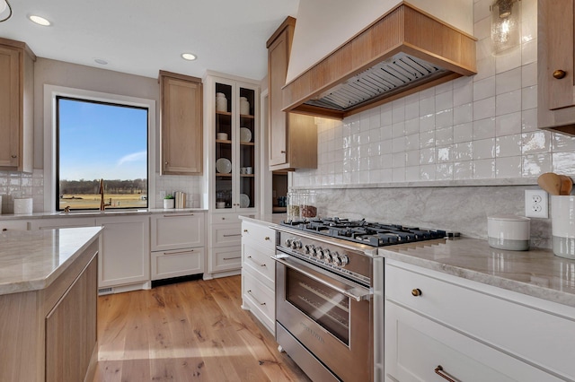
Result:
{"label": "lowest white drawer in the stack just left of the range", "polygon": [[267,326],[270,331],[274,331],[276,322],[276,299],[274,292],[264,285],[257,275],[252,273],[242,273],[243,300],[247,300],[248,306],[255,317]]}

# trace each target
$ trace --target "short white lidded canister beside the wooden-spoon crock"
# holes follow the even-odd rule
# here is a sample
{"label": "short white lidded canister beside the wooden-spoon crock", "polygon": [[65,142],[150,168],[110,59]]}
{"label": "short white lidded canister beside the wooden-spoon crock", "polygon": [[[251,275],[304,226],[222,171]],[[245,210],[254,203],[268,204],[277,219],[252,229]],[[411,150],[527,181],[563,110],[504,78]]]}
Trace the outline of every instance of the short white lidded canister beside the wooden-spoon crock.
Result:
{"label": "short white lidded canister beside the wooden-spoon crock", "polygon": [[517,215],[496,215],[487,218],[490,247],[512,251],[529,249],[531,219]]}

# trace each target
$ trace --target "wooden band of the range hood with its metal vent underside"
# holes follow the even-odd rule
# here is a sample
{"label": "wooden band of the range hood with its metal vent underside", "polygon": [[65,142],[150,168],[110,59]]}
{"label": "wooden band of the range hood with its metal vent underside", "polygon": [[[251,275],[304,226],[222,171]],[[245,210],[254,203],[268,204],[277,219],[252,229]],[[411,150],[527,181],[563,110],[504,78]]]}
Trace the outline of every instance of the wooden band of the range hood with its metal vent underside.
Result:
{"label": "wooden band of the range hood with its metal vent underside", "polygon": [[283,110],[342,119],[476,74],[476,40],[403,2],[287,83]]}

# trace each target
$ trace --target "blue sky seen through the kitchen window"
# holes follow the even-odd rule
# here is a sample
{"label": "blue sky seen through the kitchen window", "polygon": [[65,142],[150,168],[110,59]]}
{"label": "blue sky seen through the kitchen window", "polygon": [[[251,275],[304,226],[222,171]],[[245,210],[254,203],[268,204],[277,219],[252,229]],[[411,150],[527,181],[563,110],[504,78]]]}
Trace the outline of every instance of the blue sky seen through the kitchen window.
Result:
{"label": "blue sky seen through the kitchen window", "polygon": [[147,178],[147,110],[59,100],[60,179]]}

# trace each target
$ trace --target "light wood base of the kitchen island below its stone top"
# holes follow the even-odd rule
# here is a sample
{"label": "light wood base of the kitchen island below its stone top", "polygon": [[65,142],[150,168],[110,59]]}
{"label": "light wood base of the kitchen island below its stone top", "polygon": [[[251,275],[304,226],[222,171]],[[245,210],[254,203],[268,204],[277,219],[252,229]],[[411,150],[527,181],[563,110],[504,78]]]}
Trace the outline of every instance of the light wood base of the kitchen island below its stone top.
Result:
{"label": "light wood base of the kitchen island below its stone top", "polygon": [[98,243],[87,243],[46,289],[0,296],[0,380],[93,380]]}

